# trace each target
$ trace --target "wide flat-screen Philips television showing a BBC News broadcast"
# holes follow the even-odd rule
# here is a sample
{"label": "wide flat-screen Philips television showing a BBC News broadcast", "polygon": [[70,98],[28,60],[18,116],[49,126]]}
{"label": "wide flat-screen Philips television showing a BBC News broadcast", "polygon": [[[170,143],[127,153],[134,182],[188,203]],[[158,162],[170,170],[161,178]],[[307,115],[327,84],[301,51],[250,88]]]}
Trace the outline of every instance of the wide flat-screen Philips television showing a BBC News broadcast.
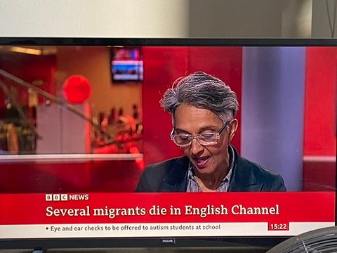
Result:
{"label": "wide flat-screen Philips television showing a BBC News broadcast", "polygon": [[[141,59],[112,60],[125,48]],[[272,247],[335,226],[336,63],[336,39],[0,38],[0,248]],[[177,79],[198,73],[236,94],[233,156],[266,168],[269,190],[233,190],[237,167],[220,192],[140,187],[145,171],[161,184],[151,176],[173,157],[187,154],[189,171],[213,166],[208,135],[181,137],[160,106]],[[62,96],[73,75],[86,82],[72,95],[91,87],[80,103]],[[179,120],[194,129],[206,109],[191,106]],[[206,162],[180,137],[213,148]]]}

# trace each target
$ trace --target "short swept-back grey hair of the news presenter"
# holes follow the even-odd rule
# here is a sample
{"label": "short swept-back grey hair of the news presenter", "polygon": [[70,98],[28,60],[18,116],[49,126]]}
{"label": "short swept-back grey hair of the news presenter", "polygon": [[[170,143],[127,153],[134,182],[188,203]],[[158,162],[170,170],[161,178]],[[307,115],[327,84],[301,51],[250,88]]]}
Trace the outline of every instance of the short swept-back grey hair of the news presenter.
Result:
{"label": "short swept-back grey hair of the news presenter", "polygon": [[220,79],[204,72],[194,72],[173,82],[160,100],[161,108],[174,119],[176,108],[182,103],[210,110],[224,123],[237,115],[237,94]]}

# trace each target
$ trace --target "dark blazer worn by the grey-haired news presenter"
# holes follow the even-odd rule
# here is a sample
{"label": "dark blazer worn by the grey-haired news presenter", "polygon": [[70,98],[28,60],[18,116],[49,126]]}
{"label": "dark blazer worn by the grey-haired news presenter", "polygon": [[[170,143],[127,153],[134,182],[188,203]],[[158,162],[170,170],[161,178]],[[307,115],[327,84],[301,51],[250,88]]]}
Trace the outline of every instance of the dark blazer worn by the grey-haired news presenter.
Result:
{"label": "dark blazer worn by the grey-haired news presenter", "polygon": [[[235,153],[231,192],[286,191],[281,176],[254,164]],[[136,192],[186,192],[190,160],[178,157],[151,164],[143,171]]]}

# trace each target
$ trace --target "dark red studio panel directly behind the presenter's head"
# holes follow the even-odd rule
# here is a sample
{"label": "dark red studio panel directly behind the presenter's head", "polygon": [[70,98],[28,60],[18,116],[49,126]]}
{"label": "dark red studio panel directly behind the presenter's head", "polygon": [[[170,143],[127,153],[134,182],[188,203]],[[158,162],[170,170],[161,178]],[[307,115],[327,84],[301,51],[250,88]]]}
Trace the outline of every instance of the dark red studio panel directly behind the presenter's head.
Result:
{"label": "dark red studio panel directly behind the presenter's head", "polygon": [[[145,164],[182,155],[171,142],[171,116],[159,106],[159,100],[178,77],[195,71],[213,74],[242,93],[242,48],[172,46],[144,47],[143,125]],[[237,115],[240,119],[240,112]],[[239,128],[240,129],[240,128]],[[233,144],[240,148],[240,130]]]}

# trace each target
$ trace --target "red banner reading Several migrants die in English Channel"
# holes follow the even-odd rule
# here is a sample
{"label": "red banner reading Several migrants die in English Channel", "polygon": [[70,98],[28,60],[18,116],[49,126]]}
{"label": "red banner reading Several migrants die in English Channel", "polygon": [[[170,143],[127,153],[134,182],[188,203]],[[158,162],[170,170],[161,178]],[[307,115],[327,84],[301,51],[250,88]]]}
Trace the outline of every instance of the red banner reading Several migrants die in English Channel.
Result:
{"label": "red banner reading Several migrants die in English Channel", "polygon": [[0,194],[1,225],[333,221],[333,192]]}

